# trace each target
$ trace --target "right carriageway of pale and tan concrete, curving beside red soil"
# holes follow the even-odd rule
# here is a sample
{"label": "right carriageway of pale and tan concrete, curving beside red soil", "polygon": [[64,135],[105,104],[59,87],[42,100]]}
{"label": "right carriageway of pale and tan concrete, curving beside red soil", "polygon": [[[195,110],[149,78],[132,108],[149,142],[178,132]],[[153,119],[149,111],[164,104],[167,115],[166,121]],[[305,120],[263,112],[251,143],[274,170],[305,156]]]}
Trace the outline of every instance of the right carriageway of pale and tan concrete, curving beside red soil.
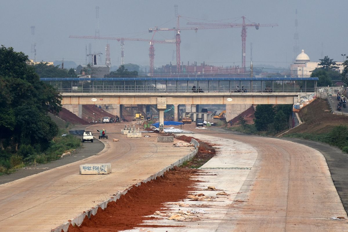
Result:
{"label": "right carriageway of pale and tan concrete, curving beside red soil", "polygon": [[[217,202],[196,201],[195,204],[204,204],[205,207],[186,206],[180,209],[204,210],[206,213],[195,215],[198,221],[173,222],[163,219],[146,224],[181,226],[166,227],[171,232],[348,231],[347,213],[326,160],[319,151],[291,141],[237,135],[214,128],[195,129],[194,126],[185,125],[185,130],[195,131],[197,134],[191,136],[223,149],[206,164],[212,168],[208,169],[211,175],[203,175],[204,179],[200,179],[205,181],[204,185],[214,185],[215,179],[215,187],[231,194],[227,197],[230,203],[224,204],[219,199]],[[230,151],[230,155],[226,151]],[[221,167],[232,170],[221,171]],[[251,169],[233,170],[235,167]],[[216,179],[224,180],[224,183]],[[192,204],[189,199],[184,202]],[[163,231],[163,228],[145,229]]]}

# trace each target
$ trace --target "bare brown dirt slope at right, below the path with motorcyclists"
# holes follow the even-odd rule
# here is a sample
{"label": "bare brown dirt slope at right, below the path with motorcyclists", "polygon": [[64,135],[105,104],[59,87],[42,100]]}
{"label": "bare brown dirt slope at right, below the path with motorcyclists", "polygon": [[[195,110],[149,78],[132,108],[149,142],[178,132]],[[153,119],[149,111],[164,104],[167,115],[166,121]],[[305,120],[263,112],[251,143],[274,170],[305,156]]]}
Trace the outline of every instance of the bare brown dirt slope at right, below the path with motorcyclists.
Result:
{"label": "bare brown dirt slope at right, below the path with motorcyclists", "polygon": [[348,116],[332,114],[324,99],[316,99],[309,105],[303,107],[300,112],[300,117],[304,123],[290,130],[292,133],[328,133],[334,126],[348,126]]}

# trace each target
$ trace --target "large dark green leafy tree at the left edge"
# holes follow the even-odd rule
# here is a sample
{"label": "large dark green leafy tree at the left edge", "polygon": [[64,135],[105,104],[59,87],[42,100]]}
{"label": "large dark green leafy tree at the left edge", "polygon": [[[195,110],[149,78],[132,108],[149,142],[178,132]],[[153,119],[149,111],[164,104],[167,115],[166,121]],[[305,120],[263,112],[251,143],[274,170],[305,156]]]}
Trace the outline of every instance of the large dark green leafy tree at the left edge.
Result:
{"label": "large dark green leafy tree at the left edge", "polygon": [[4,150],[14,153],[22,144],[44,150],[58,133],[47,112],[59,112],[61,97],[27,62],[24,53],[1,46],[0,158]]}

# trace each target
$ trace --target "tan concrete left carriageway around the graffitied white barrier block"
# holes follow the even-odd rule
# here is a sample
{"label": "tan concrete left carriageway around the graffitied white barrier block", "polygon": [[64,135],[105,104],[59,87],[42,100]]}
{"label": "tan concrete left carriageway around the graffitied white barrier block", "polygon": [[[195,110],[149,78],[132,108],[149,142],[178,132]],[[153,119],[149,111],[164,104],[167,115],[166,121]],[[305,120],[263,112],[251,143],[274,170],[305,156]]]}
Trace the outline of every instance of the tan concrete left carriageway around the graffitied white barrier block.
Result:
{"label": "tan concrete left carriageway around the graffitied white barrier block", "polygon": [[[0,185],[0,231],[50,231],[189,154],[192,147],[157,143],[157,135],[126,138],[122,126],[106,129],[99,155]],[[112,142],[112,138],[120,139]],[[111,163],[108,175],[79,175],[79,165]]]}

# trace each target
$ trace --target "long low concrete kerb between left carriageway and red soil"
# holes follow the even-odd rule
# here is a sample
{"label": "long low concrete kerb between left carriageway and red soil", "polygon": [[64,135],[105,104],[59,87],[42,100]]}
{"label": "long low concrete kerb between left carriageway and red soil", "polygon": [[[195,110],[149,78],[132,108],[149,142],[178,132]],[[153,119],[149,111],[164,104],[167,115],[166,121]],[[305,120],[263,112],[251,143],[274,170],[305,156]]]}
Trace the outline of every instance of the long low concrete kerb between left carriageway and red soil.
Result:
{"label": "long low concrete kerb between left carriageway and red soil", "polygon": [[[194,139],[192,139],[192,140],[194,140]],[[192,140],[191,140],[191,143],[192,143]],[[198,142],[196,140],[194,140],[194,141],[198,144]],[[190,154],[186,155],[184,158],[172,163],[171,165],[167,166],[166,168],[162,169],[161,171],[157,172],[156,174],[153,174],[152,176],[150,176],[150,177],[144,179],[143,181],[135,184],[135,186],[140,186],[141,183],[146,183],[146,182],[149,182],[153,179],[156,179],[157,177],[163,176],[166,171],[173,169],[175,166],[181,165],[186,160],[191,159],[193,156],[195,156],[197,154],[198,149],[197,149],[196,145],[195,145],[195,148],[196,149],[194,151],[192,151]],[[51,230],[51,232],[61,232],[62,230],[64,232],[66,232],[66,231],[68,231],[70,224],[72,224],[73,226],[75,226],[75,225],[80,226],[82,224],[82,222],[84,221],[86,216],[88,218],[90,218],[91,215],[96,215],[99,207],[101,207],[102,209],[105,209],[109,202],[117,201],[118,199],[120,199],[121,195],[125,195],[128,192],[128,190],[130,190],[130,189],[132,189],[132,187],[128,188],[127,190],[125,190],[123,192],[118,192],[118,193],[114,194],[114,197],[109,198],[108,200],[103,201],[99,205],[91,208],[90,210],[78,215],[75,218],[70,219],[68,222],[65,222],[64,224]]]}

